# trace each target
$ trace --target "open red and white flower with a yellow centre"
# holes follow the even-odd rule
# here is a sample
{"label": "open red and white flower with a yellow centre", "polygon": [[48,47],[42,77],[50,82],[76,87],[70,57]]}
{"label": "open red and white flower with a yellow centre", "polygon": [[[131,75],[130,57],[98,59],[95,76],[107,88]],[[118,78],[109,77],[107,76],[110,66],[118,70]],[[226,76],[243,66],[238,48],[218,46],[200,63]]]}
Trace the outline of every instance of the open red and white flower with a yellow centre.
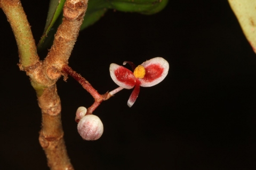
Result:
{"label": "open red and white flower with a yellow centre", "polygon": [[169,70],[169,63],[162,57],[152,58],[141,65],[135,67],[132,62],[129,63],[134,70],[131,72],[123,66],[117,64],[110,64],[109,71],[113,81],[124,89],[133,89],[132,94],[127,102],[129,107],[132,107],[137,99],[140,86],[151,87],[163,81]]}

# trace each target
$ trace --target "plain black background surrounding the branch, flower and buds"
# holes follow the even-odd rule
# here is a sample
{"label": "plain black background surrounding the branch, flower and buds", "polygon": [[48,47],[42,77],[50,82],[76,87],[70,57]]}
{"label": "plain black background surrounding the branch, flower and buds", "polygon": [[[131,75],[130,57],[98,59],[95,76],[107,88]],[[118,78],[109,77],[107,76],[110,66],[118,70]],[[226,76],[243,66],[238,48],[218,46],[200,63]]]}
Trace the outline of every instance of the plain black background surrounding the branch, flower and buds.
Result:
{"label": "plain black background surrounding the branch, flower and buds", "polygon": [[[90,2],[89,2],[90,3]],[[22,1],[36,43],[48,1]],[[0,169],[47,169],[38,142],[41,111],[0,11]],[[45,53],[40,53],[43,58]],[[157,86],[122,90],[94,112],[104,124],[84,141],[74,121],[93,98],[72,78],[57,83],[68,154],[75,169],[255,169],[256,57],[227,1],[172,1],[155,15],[109,10],[80,33],[69,65],[101,94],[117,85],[109,65],[164,57]]]}

